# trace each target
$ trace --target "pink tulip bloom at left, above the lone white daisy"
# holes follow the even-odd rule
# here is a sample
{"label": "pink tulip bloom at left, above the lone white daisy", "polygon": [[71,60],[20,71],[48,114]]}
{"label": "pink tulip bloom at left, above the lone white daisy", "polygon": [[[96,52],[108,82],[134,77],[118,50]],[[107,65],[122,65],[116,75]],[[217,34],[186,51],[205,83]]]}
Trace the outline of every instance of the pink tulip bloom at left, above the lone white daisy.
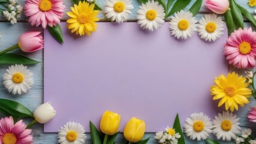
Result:
{"label": "pink tulip bloom at left, above the lone white daisy", "polygon": [[29,31],[20,35],[18,46],[23,52],[35,52],[43,49],[43,37],[41,32]]}

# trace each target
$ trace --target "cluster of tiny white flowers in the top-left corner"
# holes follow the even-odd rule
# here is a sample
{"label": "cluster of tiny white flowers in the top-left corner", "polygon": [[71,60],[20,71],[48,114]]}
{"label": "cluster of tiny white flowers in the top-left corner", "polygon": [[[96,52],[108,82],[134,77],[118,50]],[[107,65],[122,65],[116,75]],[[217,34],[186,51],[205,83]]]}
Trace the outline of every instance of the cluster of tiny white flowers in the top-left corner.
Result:
{"label": "cluster of tiny white flowers in the top-left corner", "polygon": [[23,7],[17,3],[17,0],[9,0],[10,4],[4,5],[7,10],[3,11],[3,16],[11,22],[17,23],[17,18],[22,14]]}

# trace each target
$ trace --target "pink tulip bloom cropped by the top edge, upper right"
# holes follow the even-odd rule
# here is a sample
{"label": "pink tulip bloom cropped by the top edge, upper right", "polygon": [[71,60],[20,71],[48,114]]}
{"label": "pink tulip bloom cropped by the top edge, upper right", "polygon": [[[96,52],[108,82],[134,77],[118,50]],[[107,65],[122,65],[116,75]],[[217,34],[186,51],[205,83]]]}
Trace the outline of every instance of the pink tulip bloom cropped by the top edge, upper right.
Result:
{"label": "pink tulip bloom cropped by the top edge, upper right", "polygon": [[230,7],[228,0],[206,0],[206,7],[216,14],[224,14]]}

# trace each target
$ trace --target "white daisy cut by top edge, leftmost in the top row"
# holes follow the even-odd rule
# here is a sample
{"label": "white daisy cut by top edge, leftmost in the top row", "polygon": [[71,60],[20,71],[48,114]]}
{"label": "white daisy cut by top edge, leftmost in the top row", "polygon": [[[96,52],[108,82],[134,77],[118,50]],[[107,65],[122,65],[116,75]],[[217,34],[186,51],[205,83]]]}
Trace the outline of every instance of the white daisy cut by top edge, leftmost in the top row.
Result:
{"label": "white daisy cut by top edge, leftmost in the top row", "polygon": [[133,10],[130,0],[106,0],[104,13],[108,19],[117,23],[126,22]]}

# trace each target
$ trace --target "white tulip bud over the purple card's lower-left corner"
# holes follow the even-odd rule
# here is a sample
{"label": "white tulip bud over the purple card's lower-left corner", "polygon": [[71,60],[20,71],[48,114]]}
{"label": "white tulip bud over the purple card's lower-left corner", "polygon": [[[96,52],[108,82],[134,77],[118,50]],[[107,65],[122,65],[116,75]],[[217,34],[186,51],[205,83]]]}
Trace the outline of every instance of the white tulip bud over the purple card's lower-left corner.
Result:
{"label": "white tulip bud over the purple card's lower-left corner", "polygon": [[38,106],[37,109],[34,110],[33,115],[34,115],[35,121],[41,124],[45,124],[56,115],[56,111],[50,105],[50,102],[47,102]]}

